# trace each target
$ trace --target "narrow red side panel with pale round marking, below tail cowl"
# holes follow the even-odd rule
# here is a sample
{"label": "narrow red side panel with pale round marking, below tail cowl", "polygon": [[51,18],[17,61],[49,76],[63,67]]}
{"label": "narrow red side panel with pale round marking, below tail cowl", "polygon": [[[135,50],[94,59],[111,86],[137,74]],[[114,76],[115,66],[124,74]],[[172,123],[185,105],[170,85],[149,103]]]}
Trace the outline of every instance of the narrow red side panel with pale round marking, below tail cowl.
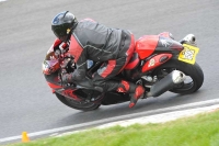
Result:
{"label": "narrow red side panel with pale round marking, below tail cowl", "polygon": [[149,71],[165,61],[168,61],[173,55],[172,54],[159,54],[150,58],[141,68],[141,72]]}

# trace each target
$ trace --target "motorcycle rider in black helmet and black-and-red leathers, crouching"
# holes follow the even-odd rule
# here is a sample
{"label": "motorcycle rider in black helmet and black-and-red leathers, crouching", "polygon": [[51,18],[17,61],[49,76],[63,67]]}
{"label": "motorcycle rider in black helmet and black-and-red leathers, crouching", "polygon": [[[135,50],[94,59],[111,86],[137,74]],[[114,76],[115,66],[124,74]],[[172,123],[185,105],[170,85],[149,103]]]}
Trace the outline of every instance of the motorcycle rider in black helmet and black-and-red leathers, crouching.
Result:
{"label": "motorcycle rider in black helmet and black-and-red leathers, crouching", "polygon": [[135,106],[145,93],[143,87],[126,80],[111,80],[124,69],[134,53],[135,38],[129,31],[106,27],[91,19],[78,22],[69,11],[60,12],[53,19],[51,30],[58,37],[56,43],[69,44],[68,53],[74,57],[77,66],[73,72],[61,75],[64,83],[84,79],[88,59],[103,61],[92,76],[94,86],[102,87],[103,91],[130,93],[129,108]]}

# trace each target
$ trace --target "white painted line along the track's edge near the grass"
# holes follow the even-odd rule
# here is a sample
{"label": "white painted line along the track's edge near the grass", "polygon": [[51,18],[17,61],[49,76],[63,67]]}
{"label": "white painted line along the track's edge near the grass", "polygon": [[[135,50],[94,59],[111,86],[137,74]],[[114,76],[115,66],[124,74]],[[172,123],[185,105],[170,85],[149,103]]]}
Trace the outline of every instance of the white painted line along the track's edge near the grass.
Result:
{"label": "white painted line along the track's edge near the grass", "polygon": [[[170,106],[170,108],[164,108],[164,109],[157,109],[157,110],[146,111],[146,112],[141,112],[141,113],[132,113],[132,114],[128,114],[128,115],[120,115],[120,116],[108,117],[108,119],[104,119],[104,120],[99,120],[99,121],[93,121],[93,122],[88,122],[88,123],[82,123],[82,124],[77,124],[77,125],[70,125],[70,126],[64,126],[64,127],[58,127],[58,128],[53,128],[53,130],[30,133],[28,137],[41,136],[41,135],[45,135],[45,134],[53,134],[53,133],[64,132],[64,131],[68,131],[68,130],[85,127],[85,126],[94,125],[94,124],[96,125],[96,124],[103,124],[103,123],[107,123],[107,122],[114,122],[114,121],[124,120],[124,119],[130,119],[131,116],[139,117],[139,116],[143,116],[146,114],[152,114],[152,113],[157,113],[157,112],[168,112],[168,111],[173,111],[173,110],[188,109],[188,108],[201,106],[201,105],[204,106],[207,104],[217,104],[217,103],[219,103],[219,99],[207,100],[207,101],[201,101],[201,102],[194,102],[194,103]],[[21,135],[1,138],[0,143],[16,141],[16,139],[21,139]]]}

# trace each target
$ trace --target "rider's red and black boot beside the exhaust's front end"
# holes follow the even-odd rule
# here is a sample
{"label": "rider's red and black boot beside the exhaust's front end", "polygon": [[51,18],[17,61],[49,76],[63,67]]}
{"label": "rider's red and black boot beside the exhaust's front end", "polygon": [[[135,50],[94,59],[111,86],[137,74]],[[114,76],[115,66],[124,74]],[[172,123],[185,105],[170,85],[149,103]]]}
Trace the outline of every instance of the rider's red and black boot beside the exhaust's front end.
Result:
{"label": "rider's red and black boot beside the exhaust's front end", "polygon": [[145,93],[145,88],[142,86],[137,86],[134,93],[130,93],[130,103],[129,108],[134,108],[138,99],[142,98]]}

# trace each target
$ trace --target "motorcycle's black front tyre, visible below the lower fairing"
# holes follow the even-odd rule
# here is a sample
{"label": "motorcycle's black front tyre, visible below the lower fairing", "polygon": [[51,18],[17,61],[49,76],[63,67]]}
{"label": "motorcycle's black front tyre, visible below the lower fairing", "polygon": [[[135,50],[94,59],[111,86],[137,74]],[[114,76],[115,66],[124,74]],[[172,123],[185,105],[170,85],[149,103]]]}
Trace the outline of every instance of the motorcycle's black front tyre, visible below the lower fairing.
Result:
{"label": "motorcycle's black front tyre, visible below the lower fairing", "polygon": [[93,103],[93,102],[78,102],[72,99],[66,98],[59,93],[55,93],[56,97],[67,106],[76,109],[76,110],[81,110],[81,111],[93,111],[100,108],[101,104]]}

